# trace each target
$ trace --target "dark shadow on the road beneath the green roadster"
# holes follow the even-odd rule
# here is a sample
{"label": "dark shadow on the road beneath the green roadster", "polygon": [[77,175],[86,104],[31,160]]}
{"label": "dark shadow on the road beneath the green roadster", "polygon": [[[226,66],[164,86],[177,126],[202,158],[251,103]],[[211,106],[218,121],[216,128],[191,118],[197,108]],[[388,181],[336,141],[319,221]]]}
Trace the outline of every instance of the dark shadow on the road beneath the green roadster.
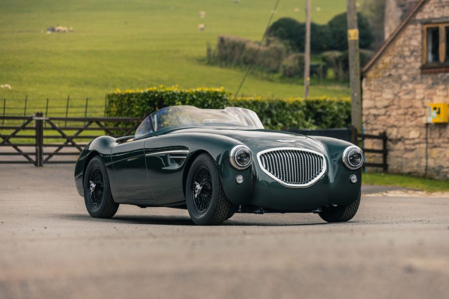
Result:
{"label": "dark shadow on the road beneath the green roadster", "polygon": [[[93,218],[83,214],[63,214],[60,215],[74,221],[104,222],[104,223],[123,223],[123,224],[153,224],[153,225],[183,225],[196,226],[187,216],[180,215],[116,215],[111,219]],[[266,221],[229,219],[225,220],[221,226],[310,226],[310,225],[335,225],[336,223],[327,222],[296,222],[265,218]],[[348,223],[348,222],[346,222]],[[350,223],[350,222],[349,222]]]}

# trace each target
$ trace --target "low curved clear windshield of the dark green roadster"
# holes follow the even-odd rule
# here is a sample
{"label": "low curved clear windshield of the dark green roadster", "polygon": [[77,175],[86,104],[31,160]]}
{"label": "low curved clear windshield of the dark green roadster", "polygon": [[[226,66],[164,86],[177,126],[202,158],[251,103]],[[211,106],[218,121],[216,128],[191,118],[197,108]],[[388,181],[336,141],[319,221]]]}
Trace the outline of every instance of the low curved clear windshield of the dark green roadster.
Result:
{"label": "low curved clear windshield of the dark green roadster", "polygon": [[177,125],[264,128],[254,111],[238,107],[200,109],[194,106],[170,106],[157,110],[150,116],[155,131]]}

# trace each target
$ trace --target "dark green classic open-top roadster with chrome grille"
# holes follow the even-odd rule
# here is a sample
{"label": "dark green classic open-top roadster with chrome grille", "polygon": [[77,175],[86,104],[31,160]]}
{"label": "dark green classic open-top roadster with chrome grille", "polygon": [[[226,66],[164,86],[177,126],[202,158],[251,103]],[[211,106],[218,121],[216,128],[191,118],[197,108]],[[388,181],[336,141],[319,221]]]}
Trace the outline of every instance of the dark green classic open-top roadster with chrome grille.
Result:
{"label": "dark green classic open-top roadster with chrome grille", "polygon": [[134,136],[102,136],[81,152],[75,185],[92,217],[120,203],[186,208],[194,223],[236,212],[312,212],[350,220],[360,203],[363,153],[333,138],[265,130],[237,107],[170,106]]}

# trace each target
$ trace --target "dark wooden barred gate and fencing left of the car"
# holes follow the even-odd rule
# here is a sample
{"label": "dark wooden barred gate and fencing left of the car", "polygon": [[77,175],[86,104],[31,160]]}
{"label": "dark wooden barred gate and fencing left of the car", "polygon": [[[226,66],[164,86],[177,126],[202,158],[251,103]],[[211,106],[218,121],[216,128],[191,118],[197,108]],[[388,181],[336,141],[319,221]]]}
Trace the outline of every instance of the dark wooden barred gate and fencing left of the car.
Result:
{"label": "dark wooden barred gate and fencing left of the car", "polygon": [[47,163],[75,163],[73,156],[78,156],[90,140],[101,135],[130,135],[140,122],[140,118],[124,117],[45,117],[42,112],[0,116],[0,164],[42,167]]}

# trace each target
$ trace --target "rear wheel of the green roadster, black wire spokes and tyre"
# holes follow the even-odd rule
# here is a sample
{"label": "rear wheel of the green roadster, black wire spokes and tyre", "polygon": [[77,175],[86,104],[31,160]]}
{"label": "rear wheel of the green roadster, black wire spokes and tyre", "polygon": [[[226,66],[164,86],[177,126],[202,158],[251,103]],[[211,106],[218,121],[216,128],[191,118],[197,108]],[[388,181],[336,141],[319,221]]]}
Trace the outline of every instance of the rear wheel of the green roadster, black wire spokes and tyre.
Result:
{"label": "rear wheel of the green roadster, black wire spokes and tyre", "polygon": [[84,203],[89,215],[94,218],[112,218],[119,203],[115,202],[105,164],[99,157],[89,161],[84,173]]}

